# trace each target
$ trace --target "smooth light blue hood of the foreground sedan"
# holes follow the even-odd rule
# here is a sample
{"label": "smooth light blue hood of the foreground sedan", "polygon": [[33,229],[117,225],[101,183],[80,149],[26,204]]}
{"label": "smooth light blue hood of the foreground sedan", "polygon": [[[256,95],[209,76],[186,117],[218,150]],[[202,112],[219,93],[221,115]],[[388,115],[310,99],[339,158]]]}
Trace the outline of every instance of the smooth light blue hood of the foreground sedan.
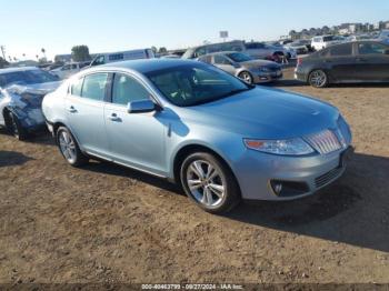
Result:
{"label": "smooth light blue hood of the foreground sedan", "polygon": [[289,139],[336,129],[339,111],[322,101],[279,89],[256,89],[184,108],[182,120],[246,138]]}

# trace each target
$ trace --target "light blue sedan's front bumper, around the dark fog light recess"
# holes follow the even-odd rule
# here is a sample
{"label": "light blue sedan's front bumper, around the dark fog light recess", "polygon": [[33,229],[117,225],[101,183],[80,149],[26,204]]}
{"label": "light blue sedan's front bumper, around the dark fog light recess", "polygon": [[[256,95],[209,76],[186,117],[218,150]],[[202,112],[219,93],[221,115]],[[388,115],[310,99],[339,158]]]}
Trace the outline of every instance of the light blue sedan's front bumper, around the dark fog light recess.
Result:
{"label": "light blue sedan's front bumper, around the dark fog light recess", "polygon": [[[329,154],[309,157],[280,157],[247,150],[245,158],[235,164],[242,198],[247,200],[293,200],[313,194],[332,183],[346,170],[346,158],[352,148]],[[272,181],[285,181],[307,185],[307,191],[298,194],[278,195]]]}

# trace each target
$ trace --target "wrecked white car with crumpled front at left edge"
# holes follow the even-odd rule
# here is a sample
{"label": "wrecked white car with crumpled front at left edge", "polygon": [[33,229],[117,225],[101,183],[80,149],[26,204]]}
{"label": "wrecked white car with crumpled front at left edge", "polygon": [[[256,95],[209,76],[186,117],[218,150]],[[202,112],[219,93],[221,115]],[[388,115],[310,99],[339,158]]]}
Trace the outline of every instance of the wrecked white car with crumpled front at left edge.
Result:
{"label": "wrecked white car with crumpled front at left edge", "polygon": [[38,68],[0,70],[0,127],[20,140],[44,128],[42,99],[59,84],[57,77]]}

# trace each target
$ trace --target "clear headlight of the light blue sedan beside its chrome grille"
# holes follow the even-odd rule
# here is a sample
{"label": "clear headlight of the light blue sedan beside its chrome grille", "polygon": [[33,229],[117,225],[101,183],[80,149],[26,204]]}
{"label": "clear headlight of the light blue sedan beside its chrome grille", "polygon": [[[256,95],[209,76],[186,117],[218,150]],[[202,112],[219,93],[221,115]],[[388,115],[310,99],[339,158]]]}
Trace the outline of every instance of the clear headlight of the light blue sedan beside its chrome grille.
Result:
{"label": "clear headlight of the light blue sedan beside its chrome grille", "polygon": [[290,140],[243,139],[243,142],[250,150],[281,155],[303,155],[315,152],[315,150],[307,142],[299,138]]}

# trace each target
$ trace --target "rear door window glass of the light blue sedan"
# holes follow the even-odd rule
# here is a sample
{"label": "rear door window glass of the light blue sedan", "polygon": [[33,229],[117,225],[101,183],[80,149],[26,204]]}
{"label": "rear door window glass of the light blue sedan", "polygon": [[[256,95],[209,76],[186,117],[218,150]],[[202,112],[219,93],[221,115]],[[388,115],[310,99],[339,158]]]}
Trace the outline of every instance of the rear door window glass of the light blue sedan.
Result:
{"label": "rear door window glass of the light blue sedan", "polygon": [[82,98],[97,101],[104,100],[108,73],[93,73],[84,77],[82,86]]}

